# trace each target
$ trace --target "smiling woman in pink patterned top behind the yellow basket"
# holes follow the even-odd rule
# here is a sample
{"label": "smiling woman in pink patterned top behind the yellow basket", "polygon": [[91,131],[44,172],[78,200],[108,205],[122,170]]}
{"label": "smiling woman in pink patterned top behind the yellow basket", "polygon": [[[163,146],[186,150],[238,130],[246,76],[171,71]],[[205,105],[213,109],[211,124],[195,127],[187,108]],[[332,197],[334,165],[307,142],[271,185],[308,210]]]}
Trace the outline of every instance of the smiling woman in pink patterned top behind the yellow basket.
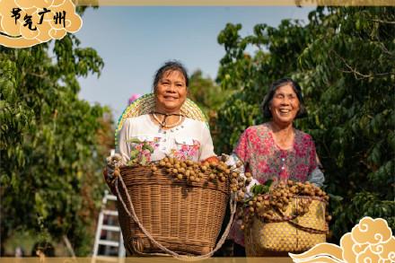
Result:
{"label": "smiling woman in pink patterned top behind the yellow basket", "polygon": [[[294,119],[307,115],[298,83],[284,78],[272,83],[262,103],[267,123],[248,127],[233,150],[233,162],[243,162],[257,183],[266,180],[311,181],[321,187],[323,173],[312,136],[294,128]],[[230,238],[235,242],[234,256],[243,256],[244,235],[241,221],[233,224]]]}

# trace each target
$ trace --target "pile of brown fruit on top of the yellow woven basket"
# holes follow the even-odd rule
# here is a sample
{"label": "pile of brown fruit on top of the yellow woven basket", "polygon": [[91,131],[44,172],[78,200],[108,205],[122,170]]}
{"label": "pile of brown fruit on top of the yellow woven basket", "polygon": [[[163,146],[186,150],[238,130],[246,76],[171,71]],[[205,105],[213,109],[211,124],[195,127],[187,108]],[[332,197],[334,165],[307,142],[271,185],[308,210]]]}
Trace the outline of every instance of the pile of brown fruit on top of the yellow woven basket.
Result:
{"label": "pile of brown fruit on top of the yellow woven basket", "polygon": [[[253,188],[252,191],[254,192]],[[295,202],[294,197],[298,197],[297,206],[293,206],[292,215],[285,215],[287,207]],[[312,183],[293,180],[280,181],[276,186],[268,188],[268,192],[260,190],[260,193],[256,193],[254,197],[246,201],[244,207],[239,208],[238,216],[242,217],[244,221],[241,229],[244,229],[244,225],[249,224],[250,219],[255,215],[264,222],[287,221],[296,216],[305,215],[309,212],[313,199],[324,201],[328,206],[329,196]],[[326,221],[329,222],[331,216],[327,212],[328,209],[325,211]]]}

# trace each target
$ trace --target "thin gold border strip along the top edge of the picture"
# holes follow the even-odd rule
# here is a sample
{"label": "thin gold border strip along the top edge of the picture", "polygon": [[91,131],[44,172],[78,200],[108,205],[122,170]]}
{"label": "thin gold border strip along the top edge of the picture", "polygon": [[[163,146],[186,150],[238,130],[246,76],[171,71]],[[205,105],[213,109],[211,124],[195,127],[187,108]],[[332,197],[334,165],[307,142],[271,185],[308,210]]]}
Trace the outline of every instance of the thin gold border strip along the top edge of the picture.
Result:
{"label": "thin gold border strip along the top edge of the picture", "polygon": [[77,5],[131,6],[395,6],[394,0],[74,0]]}

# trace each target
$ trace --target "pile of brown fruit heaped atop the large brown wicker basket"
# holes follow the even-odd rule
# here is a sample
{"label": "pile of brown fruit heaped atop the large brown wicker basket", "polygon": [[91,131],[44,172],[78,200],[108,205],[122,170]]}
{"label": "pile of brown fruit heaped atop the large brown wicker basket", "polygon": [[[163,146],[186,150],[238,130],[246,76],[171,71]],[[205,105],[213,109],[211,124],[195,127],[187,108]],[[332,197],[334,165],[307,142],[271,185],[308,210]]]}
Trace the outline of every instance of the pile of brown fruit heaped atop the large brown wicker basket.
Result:
{"label": "pile of brown fruit heaped atop the large brown wicker basket", "polygon": [[245,173],[245,177],[241,176],[238,168],[241,162],[236,165],[227,165],[226,157],[218,157],[218,162],[193,162],[190,160],[180,161],[175,158],[165,157],[161,161],[151,162],[149,165],[151,171],[155,172],[159,169],[165,169],[173,178],[177,180],[187,180],[189,182],[200,182],[202,180],[221,182],[229,181],[230,189],[233,193],[237,193],[235,198],[243,201],[246,186],[252,180],[249,172]]}

